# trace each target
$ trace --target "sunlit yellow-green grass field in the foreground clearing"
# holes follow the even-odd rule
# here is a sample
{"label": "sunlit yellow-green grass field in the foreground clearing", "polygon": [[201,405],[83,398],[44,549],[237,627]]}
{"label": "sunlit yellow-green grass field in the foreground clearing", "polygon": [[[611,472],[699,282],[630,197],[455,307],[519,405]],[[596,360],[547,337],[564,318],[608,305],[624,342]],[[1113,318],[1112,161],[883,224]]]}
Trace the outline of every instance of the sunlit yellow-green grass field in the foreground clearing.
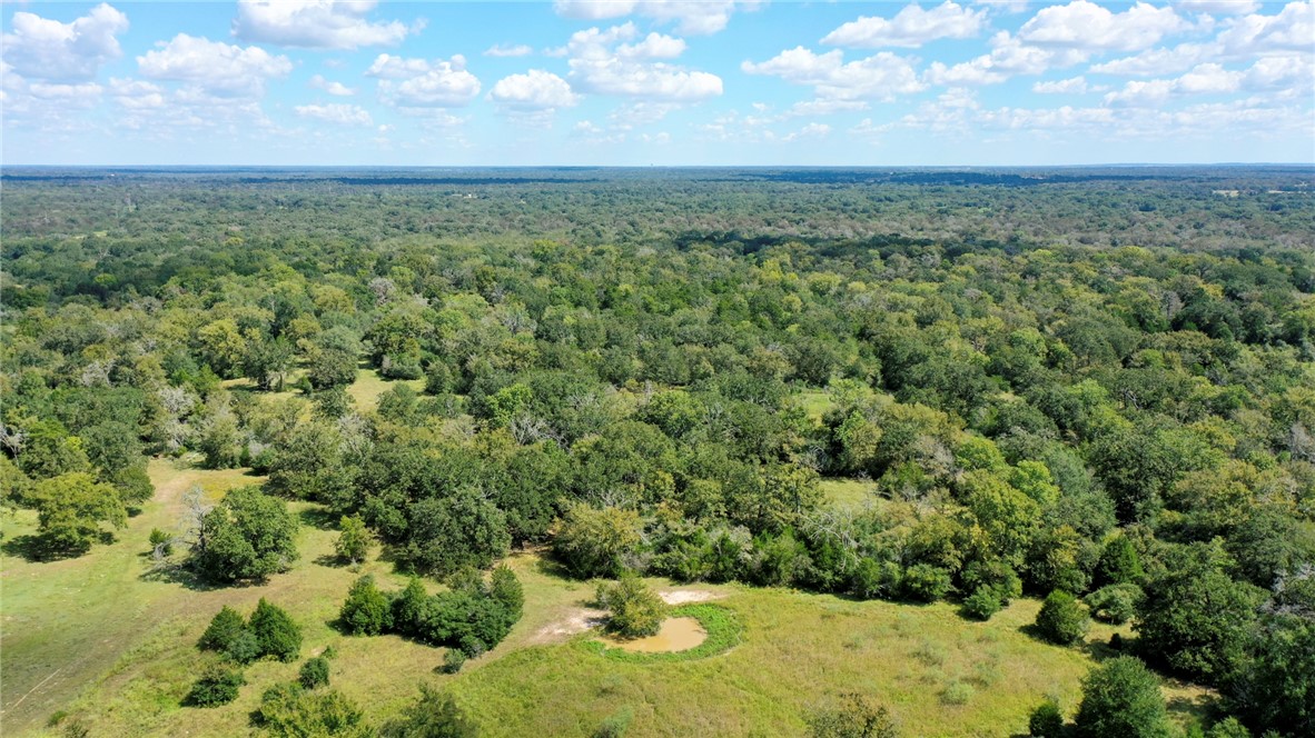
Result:
{"label": "sunlit yellow-green grass field in the foreground clearing", "polygon": [[[388,387],[363,370],[352,395],[371,407]],[[434,674],[442,649],[385,636],[352,638],[331,625],[350,583],[375,574],[384,588],[405,579],[389,563],[348,570],[330,558],[337,533],[317,506],[295,503],[300,559],[291,571],[251,587],[205,588],[181,578],[151,578],[151,528],[176,529],[183,494],[201,485],[210,498],[259,483],[241,470],[206,471],[185,462],[150,464],[155,498],[117,541],[67,561],[21,557],[36,529],[24,511],[4,519],[0,557],[0,721],[5,735],[51,733],[57,710],[92,735],[238,735],[271,684],[293,679],[300,663],[246,670],[239,699],[216,709],[179,706],[200,659],[196,640],[221,605],[243,613],[259,597],[284,607],[302,628],[302,657],[334,646],[333,684],[380,722],[414,700],[430,680],[452,689],[487,735],[589,735],[629,710],[631,737],[798,735],[803,716],[828,696],[874,695],[906,735],[1010,735],[1045,696],[1072,710],[1081,676],[1106,654],[1115,629],[1097,625],[1082,647],[1030,637],[1039,603],[1018,600],[989,622],[952,604],[851,601],[831,595],[742,586],[693,588],[718,597],[743,628],[726,653],[704,659],[617,659],[589,643],[585,617],[593,588],[560,575],[538,553],[508,563],[525,586],[525,617],[489,654],[458,675]],[[871,498],[861,481],[827,481],[832,504]],[[652,580],[661,588],[673,587]],[[434,586],[437,588],[437,586]],[[684,587],[689,588],[689,587]],[[1122,629],[1122,632],[1127,632]],[[1193,687],[1166,687],[1176,717],[1189,720],[1210,699]]]}

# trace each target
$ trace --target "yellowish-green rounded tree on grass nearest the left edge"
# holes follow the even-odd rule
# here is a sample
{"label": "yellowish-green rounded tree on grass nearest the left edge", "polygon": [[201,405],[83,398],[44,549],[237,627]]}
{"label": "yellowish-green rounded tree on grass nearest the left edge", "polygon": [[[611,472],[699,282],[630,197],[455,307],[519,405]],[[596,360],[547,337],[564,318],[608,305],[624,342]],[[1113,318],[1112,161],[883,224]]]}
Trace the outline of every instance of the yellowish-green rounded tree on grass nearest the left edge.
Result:
{"label": "yellowish-green rounded tree on grass nearest the left edge", "polygon": [[37,531],[54,552],[85,553],[100,537],[101,523],[114,528],[128,524],[118,491],[83,471],[42,479],[32,496],[37,500]]}

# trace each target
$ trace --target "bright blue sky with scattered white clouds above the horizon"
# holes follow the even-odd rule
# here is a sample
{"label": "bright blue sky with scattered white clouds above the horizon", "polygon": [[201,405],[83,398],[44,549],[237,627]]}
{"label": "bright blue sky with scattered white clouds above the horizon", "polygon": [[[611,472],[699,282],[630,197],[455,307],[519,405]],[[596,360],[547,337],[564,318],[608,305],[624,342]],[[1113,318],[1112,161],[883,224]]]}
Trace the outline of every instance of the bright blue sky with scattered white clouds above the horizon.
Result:
{"label": "bright blue sky with scattered white clouds above the horizon", "polygon": [[1315,1],[13,3],[5,164],[1315,162]]}

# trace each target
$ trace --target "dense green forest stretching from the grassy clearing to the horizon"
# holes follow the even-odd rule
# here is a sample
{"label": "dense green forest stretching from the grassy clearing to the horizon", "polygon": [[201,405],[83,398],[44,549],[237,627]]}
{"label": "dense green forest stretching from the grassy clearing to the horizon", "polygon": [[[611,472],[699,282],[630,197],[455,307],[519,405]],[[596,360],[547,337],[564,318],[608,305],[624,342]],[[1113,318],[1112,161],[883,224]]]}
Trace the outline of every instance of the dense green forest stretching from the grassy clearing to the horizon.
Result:
{"label": "dense green forest stretching from the grassy clearing to the horizon", "polygon": [[[355,579],[339,630],[443,646],[448,674],[529,615],[502,562],[534,550],[563,579],[617,580],[597,601],[636,633],[661,620],[654,578],[948,601],[964,628],[1043,600],[1023,629],[1059,649],[1090,649],[1093,619],[1127,628],[1080,701],[1035,700],[1005,731],[1315,735],[1312,183],[13,168],[5,566],[39,578],[113,545],[156,496],[149,464],[189,460],[247,479],[134,544],[146,576],[259,588],[309,566],[289,504],[309,510],[334,566],[379,555],[408,582]],[[831,504],[842,481],[861,504]],[[188,705],[300,658],[296,608],[225,608]],[[530,734],[427,684],[375,725],[326,658],[252,725]],[[1161,679],[1206,706],[1170,721]],[[798,718],[811,734],[923,733],[882,693],[836,692]]]}

